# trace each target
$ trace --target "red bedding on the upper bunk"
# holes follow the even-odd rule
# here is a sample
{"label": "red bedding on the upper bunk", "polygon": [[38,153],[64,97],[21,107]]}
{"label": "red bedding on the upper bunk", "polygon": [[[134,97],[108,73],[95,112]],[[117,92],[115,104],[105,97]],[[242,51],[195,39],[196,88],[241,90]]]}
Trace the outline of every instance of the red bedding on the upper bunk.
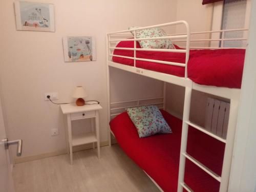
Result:
{"label": "red bedding on the upper bunk", "polygon": [[[117,47],[134,48],[134,41],[120,41]],[[137,42],[137,48],[140,48]],[[178,46],[176,48],[179,49]],[[134,57],[133,50],[114,50],[114,55]],[[207,86],[241,88],[245,49],[190,50],[188,77]],[[185,53],[136,51],[137,58],[185,63]],[[113,57],[114,62],[133,66],[134,60]],[[136,67],[184,77],[185,68],[161,63],[136,61]]]}

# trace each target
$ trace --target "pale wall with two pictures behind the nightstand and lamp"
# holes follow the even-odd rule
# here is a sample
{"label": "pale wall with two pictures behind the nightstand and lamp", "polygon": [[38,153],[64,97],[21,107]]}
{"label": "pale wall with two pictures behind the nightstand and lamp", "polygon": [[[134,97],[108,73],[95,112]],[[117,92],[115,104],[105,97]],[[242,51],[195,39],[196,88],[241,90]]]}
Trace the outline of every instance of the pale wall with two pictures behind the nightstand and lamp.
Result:
{"label": "pale wall with two pictures behind the nightstand and lamp", "polygon": [[[101,102],[100,139],[107,137],[105,33],[176,20],[177,1],[40,0],[55,5],[56,32],[16,31],[13,1],[0,7],[0,76],[3,85],[9,139],[23,139],[23,157],[66,148],[59,106],[44,101],[46,92],[58,92],[57,102],[74,101],[75,86],[83,86],[87,99]],[[65,63],[62,37],[96,37],[97,61]],[[81,129],[77,122],[75,126]],[[51,129],[59,129],[51,136]],[[13,156],[15,150],[13,150]]]}

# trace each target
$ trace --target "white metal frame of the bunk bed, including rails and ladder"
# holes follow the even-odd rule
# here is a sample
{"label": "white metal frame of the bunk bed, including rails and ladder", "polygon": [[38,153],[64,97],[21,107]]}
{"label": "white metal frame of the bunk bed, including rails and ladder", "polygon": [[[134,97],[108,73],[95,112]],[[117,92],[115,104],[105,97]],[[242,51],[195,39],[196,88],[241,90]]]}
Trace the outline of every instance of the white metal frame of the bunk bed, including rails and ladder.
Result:
{"label": "white metal frame of the bunk bed, including rails and ladder", "polygon": [[[148,38],[137,38],[136,37],[136,31],[143,30],[143,29],[151,29],[151,28],[157,28],[157,27],[166,27],[166,26],[174,26],[174,25],[184,25],[186,28],[186,33],[183,34],[174,34],[174,35],[168,35],[165,37],[148,37]],[[134,32],[134,38],[133,39],[112,39],[112,35],[118,35],[126,32]],[[232,160],[232,150],[233,150],[233,142],[234,142],[234,136],[236,132],[236,125],[237,125],[237,114],[238,114],[238,106],[239,106],[239,99],[240,99],[240,89],[230,89],[230,88],[220,88],[215,86],[203,86],[201,84],[197,84],[193,81],[191,81],[189,78],[187,78],[187,62],[189,59],[189,49],[190,49],[190,41],[219,41],[221,42],[221,45],[223,45],[223,41],[226,40],[247,40],[247,38],[224,38],[224,33],[228,31],[248,31],[247,29],[232,29],[232,30],[219,30],[219,31],[203,31],[203,32],[195,32],[190,33],[189,25],[187,22],[181,20],[177,22],[171,22],[161,25],[154,25],[154,26],[148,26],[148,27],[142,27],[142,28],[136,28],[132,30],[123,30],[123,31],[117,31],[113,33],[108,33],[106,35],[106,65],[107,65],[107,84],[108,84],[108,120],[111,120],[112,116],[118,115],[118,114],[111,114],[111,103],[110,101],[110,71],[109,67],[114,67],[117,69],[129,71],[132,73],[140,74],[146,77],[151,77],[154,79],[162,80],[164,82],[164,91],[163,91],[163,109],[165,109],[165,93],[166,93],[166,82],[177,84],[178,86],[185,87],[185,99],[184,99],[184,110],[183,110],[183,123],[182,123],[182,137],[181,137],[181,151],[180,151],[180,165],[179,165],[179,178],[178,178],[178,191],[183,191],[183,188],[185,188],[187,191],[193,191],[189,186],[187,186],[184,183],[184,173],[185,173],[185,160],[188,159],[195,163],[197,166],[199,166],[201,169],[203,169],[207,174],[209,174],[211,177],[215,178],[217,181],[220,182],[220,189],[219,191],[227,191],[228,189],[228,183],[229,183],[229,173],[230,173],[230,167],[231,167],[231,160]],[[190,40],[190,34],[211,34],[211,33],[221,33],[221,38],[219,39],[193,39]],[[184,41],[186,42],[186,47],[184,50],[177,50],[177,49],[143,49],[143,48],[136,48],[136,41],[137,40],[154,40],[154,39],[172,39],[173,42],[179,42]],[[184,39],[185,40],[181,40]],[[173,40],[178,39],[178,40]],[[134,41],[134,48],[116,48],[111,47],[112,42],[118,42],[118,41]],[[134,57],[127,57],[127,56],[120,56],[120,55],[114,55],[112,52],[114,49],[121,49],[121,50],[134,50]],[[219,47],[193,47],[193,49],[226,49],[226,48],[219,48]],[[178,52],[178,53],[185,53],[185,63],[178,63],[178,62],[168,62],[168,61],[161,61],[161,60],[153,60],[153,59],[144,59],[144,58],[137,58],[136,57],[136,51],[162,51],[162,52]],[[122,58],[128,58],[134,60],[134,66],[126,66],[122,65],[120,63],[115,63],[112,61],[112,57],[122,57]],[[151,70],[141,69],[136,67],[136,60],[142,60],[142,61],[150,61],[150,62],[157,62],[157,63],[163,63],[166,65],[174,65],[174,66],[181,66],[185,67],[185,77],[177,77],[174,75],[169,75],[165,73],[159,73]],[[189,112],[190,112],[190,101],[191,101],[191,93],[192,90],[197,90],[200,92],[208,93],[211,95],[216,95],[219,97],[230,99],[230,113],[229,113],[229,122],[228,122],[228,130],[227,130],[227,136],[226,139],[221,138],[213,133],[208,132],[203,127],[190,122],[189,121]],[[150,99],[156,99],[156,98],[148,98],[144,100],[150,100]],[[142,99],[143,100],[143,99]],[[129,103],[130,101],[121,101],[116,103]],[[137,101],[137,105],[139,106],[139,100]],[[129,107],[129,106],[128,106]],[[131,107],[131,106],[130,106]],[[127,106],[125,107],[127,108]],[[115,108],[114,108],[115,109]],[[121,108],[120,108],[121,109]],[[122,108],[124,109],[124,108]],[[195,158],[191,157],[186,153],[186,146],[187,146],[187,135],[188,135],[188,126],[192,126],[195,129],[202,131],[203,133],[214,137],[215,139],[218,139],[221,142],[225,143],[225,153],[224,153],[224,159],[223,159],[223,166],[222,166],[222,175],[219,176],[216,173],[212,172],[209,168],[204,166],[202,163],[197,161]],[[111,145],[111,134],[113,134],[109,127],[109,145]],[[114,134],[113,134],[114,136]],[[150,176],[149,176],[150,177]],[[151,178],[151,177],[150,177]],[[151,178],[152,179],[152,178]],[[153,180],[153,179],[152,179]],[[155,181],[153,180],[155,183]],[[155,183],[156,184],[156,183]],[[157,184],[156,184],[157,185]],[[162,189],[157,185],[157,187],[162,191]]]}

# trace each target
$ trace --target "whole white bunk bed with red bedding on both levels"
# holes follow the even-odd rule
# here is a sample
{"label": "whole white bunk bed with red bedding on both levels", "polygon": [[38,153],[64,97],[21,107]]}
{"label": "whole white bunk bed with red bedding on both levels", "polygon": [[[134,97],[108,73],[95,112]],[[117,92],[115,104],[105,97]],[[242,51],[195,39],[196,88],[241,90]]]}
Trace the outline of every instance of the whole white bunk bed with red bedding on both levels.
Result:
{"label": "whole white bunk bed with red bedding on both levels", "polygon": [[[165,37],[137,38],[135,35],[133,39],[119,38],[120,36],[124,37],[124,33],[131,31],[136,34],[137,30],[177,25],[184,25],[186,33]],[[183,191],[184,189],[187,191],[205,191],[209,189],[205,188],[206,185],[210,186],[212,191],[227,191],[228,189],[245,49],[195,47],[190,50],[190,42],[193,41],[218,41],[222,42],[223,45],[223,42],[226,40],[246,40],[246,38],[190,39],[190,35],[205,33],[222,33],[223,37],[223,34],[227,31],[247,31],[247,29],[190,33],[188,24],[185,21],[178,21],[108,33],[106,36],[108,111],[110,121],[109,144],[111,145],[112,134],[116,137],[126,154],[144,170],[162,191]],[[143,49],[138,44],[139,40],[164,38],[172,39],[173,42],[185,42],[185,47],[180,48],[176,46],[176,49]],[[116,42],[117,44],[115,44]],[[154,54],[151,54],[152,52]],[[167,123],[175,130],[174,134],[154,135],[142,141],[138,138],[138,134],[134,133],[134,130],[136,131],[135,126],[131,123],[126,113],[113,113],[115,110],[127,107],[126,105],[125,107],[116,108],[115,104],[128,104],[132,101],[110,101],[110,67],[164,82],[162,98],[142,100],[162,99],[162,102],[153,104],[162,104],[163,110],[161,113]],[[221,72],[220,69],[222,69]],[[164,111],[166,82],[185,87],[182,121]],[[192,90],[230,100],[226,138],[217,136],[189,121]],[[135,101],[137,104],[133,106],[144,105],[145,102],[141,104],[142,100]],[[152,102],[148,104],[152,104]],[[191,136],[188,137],[188,134]],[[201,140],[201,143],[199,140]],[[202,145],[208,146],[208,151],[203,150],[202,147],[200,151],[200,146]],[[219,146],[218,150],[212,147],[217,145]],[[150,153],[148,150],[151,150],[151,152],[152,150],[155,151]],[[173,153],[169,153],[169,150]],[[165,158],[154,158],[158,155]],[[148,159],[151,159],[150,162],[153,162],[156,166],[150,166],[147,161]],[[158,162],[160,165],[158,165]],[[197,179],[195,179],[195,175],[198,176]]]}

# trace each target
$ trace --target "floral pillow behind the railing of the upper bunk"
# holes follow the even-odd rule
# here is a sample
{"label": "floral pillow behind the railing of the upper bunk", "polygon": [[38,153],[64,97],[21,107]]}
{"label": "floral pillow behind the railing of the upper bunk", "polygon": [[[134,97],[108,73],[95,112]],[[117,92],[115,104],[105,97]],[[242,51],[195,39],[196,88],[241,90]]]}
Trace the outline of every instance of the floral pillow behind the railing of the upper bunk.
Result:
{"label": "floral pillow behind the railing of the upper bunk", "polygon": [[[139,27],[129,27],[130,29],[136,29]],[[134,31],[131,31],[134,36]],[[136,31],[137,38],[147,37],[163,37],[167,36],[165,31],[161,28],[143,29]],[[156,39],[156,40],[140,40],[140,47],[145,49],[175,49],[170,39]]]}

